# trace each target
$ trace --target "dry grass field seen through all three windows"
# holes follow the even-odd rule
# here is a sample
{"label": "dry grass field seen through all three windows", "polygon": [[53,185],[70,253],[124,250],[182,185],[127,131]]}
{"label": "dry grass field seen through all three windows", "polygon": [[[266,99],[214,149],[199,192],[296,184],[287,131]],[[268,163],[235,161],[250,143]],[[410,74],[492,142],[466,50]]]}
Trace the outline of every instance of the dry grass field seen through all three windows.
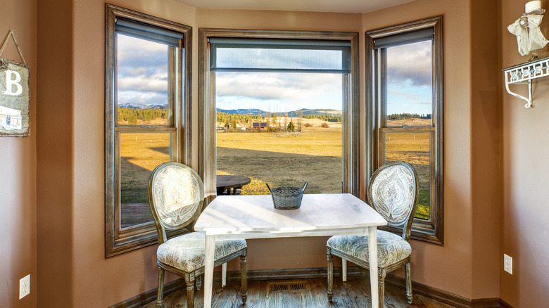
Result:
{"label": "dry grass field seen through all three windows", "polygon": [[[299,133],[217,133],[217,174],[251,178],[242,194],[267,194],[271,187],[301,187],[305,193],[341,192],[341,124],[303,127]],[[389,134],[386,160],[405,160],[423,178],[417,217],[429,217],[429,136]],[[147,186],[153,169],[170,160],[168,134],[122,134],[120,195],[122,227],[151,222]]]}

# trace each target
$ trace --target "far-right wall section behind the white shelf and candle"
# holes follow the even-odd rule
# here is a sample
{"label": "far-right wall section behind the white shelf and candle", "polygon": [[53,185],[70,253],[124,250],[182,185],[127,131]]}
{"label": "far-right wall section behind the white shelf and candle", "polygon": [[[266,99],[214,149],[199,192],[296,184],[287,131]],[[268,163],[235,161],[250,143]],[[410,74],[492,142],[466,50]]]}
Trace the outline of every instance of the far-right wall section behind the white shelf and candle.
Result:
{"label": "far-right wall section behind the white shelf and candle", "polygon": [[[524,63],[515,35],[507,25],[524,12],[526,1],[502,0],[499,29],[500,68]],[[549,8],[549,1],[542,1]],[[547,14],[545,14],[547,18]],[[549,37],[549,21],[543,20],[542,32]],[[548,46],[539,53],[549,56]],[[503,84],[503,73],[499,79]],[[525,86],[513,90],[526,95]],[[525,101],[500,89],[501,95],[501,242],[503,254],[513,258],[513,274],[500,265],[500,297],[513,307],[546,307],[549,302],[549,79],[534,81],[533,108]]]}

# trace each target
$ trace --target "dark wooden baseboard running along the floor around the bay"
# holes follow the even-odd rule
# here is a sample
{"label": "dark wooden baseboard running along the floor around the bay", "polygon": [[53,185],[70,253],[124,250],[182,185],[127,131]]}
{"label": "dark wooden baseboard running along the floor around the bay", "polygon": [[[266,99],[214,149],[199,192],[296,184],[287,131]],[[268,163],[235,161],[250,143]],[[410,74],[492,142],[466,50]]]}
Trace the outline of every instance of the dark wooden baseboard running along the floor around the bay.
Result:
{"label": "dark wooden baseboard running along the floor around the bay", "polygon": [[[347,276],[368,276],[369,272],[361,267],[348,267]],[[341,267],[334,267],[334,276],[341,276]],[[254,270],[248,271],[248,281],[260,281],[260,280],[280,280],[280,279],[307,279],[307,278],[326,278],[327,269],[325,267],[314,269],[266,269],[266,270]],[[221,280],[220,272],[214,273],[214,281]],[[240,271],[227,271],[227,280],[239,281]],[[385,283],[394,285],[398,288],[406,288],[405,279],[402,277],[387,275]],[[183,278],[179,278],[170,283],[164,285],[164,296],[170,295],[176,290],[183,288],[185,282]],[[115,304],[109,308],[137,308],[156,300],[157,288],[149,290],[146,293],[142,293],[135,297],[125,300],[118,304]],[[412,281],[412,290],[414,294],[429,297],[438,302],[450,304],[460,308],[512,308],[510,304],[507,304],[500,298],[481,298],[471,300],[461,295],[456,295],[444,290],[429,287],[422,283]]]}

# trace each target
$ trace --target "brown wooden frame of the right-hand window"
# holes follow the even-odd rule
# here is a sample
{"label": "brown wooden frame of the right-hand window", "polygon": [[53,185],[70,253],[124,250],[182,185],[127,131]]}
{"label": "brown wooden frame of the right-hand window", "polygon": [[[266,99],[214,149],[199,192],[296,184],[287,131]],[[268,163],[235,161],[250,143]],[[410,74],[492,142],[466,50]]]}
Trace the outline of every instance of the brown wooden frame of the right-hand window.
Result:
{"label": "brown wooden frame of the right-hand window", "polygon": [[[366,32],[366,143],[367,153],[366,172],[370,176],[377,167],[382,164],[383,136],[384,132],[406,132],[407,129],[394,129],[386,126],[384,115],[384,103],[386,97],[383,87],[381,72],[386,70],[378,51],[374,49],[374,39],[387,37],[393,34],[404,34],[415,30],[432,27],[434,30],[434,44],[432,49],[432,101],[433,113],[431,127],[419,127],[413,129],[417,132],[429,132],[431,134],[431,159],[434,167],[431,168],[431,204],[430,219],[414,219],[412,224],[412,238],[428,243],[443,245],[443,18],[442,16],[405,23],[384,29]],[[381,53],[381,51],[380,51]],[[408,129],[409,130],[409,129]],[[434,154],[433,154],[434,153]],[[434,195],[432,195],[434,193]],[[402,233],[401,229],[394,227],[382,227],[381,229]]]}

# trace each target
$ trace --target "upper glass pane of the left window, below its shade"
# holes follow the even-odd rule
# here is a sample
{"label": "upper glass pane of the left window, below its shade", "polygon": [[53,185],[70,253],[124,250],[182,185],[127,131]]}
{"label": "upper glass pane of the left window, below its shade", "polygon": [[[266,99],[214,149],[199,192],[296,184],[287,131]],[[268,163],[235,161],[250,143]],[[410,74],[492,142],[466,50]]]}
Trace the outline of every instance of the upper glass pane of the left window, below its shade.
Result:
{"label": "upper glass pane of the left window, below its shade", "polygon": [[168,124],[169,46],[116,34],[118,125]]}

